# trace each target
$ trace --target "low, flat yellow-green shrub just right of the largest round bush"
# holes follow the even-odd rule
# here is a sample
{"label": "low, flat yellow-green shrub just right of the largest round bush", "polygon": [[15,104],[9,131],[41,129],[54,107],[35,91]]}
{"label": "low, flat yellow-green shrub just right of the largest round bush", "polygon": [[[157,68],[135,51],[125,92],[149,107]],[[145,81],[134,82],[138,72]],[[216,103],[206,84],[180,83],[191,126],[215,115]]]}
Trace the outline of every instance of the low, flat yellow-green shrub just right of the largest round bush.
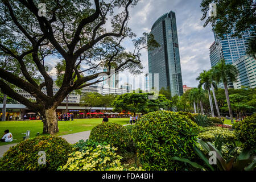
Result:
{"label": "low, flat yellow-green shrub just right of the largest round bush", "polygon": [[214,142],[216,137],[221,135],[226,140],[235,140],[236,136],[234,135],[234,131],[229,129],[225,129],[222,127],[205,127],[205,131],[198,135],[198,138],[207,141],[207,142]]}

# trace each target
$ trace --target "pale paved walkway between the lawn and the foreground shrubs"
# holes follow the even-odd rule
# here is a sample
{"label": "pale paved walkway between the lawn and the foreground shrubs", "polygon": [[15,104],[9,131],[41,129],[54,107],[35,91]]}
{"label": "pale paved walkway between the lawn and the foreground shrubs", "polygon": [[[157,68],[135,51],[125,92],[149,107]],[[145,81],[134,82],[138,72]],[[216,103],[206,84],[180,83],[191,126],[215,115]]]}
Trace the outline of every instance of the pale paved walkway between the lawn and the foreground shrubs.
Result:
{"label": "pale paved walkway between the lawn and the foreground shrubs", "polygon": [[[126,126],[126,125],[123,125]],[[79,140],[86,140],[89,139],[90,136],[90,131],[82,131],[79,133],[72,133],[72,134],[68,134],[68,135],[62,135],[59,137],[64,138],[65,140],[68,141],[68,143],[76,143],[79,142]],[[3,154],[5,154],[5,152],[7,150],[9,150],[10,147],[15,146],[18,143],[12,143],[12,144],[6,144],[4,146],[0,146],[0,158],[2,158]]]}

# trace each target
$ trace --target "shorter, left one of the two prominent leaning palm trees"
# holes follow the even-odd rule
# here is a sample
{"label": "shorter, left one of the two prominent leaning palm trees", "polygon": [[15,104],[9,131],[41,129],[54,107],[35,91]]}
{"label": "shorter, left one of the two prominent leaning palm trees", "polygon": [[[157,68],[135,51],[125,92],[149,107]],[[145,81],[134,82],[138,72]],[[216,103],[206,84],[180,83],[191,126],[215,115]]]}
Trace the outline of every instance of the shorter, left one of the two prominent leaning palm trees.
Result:
{"label": "shorter, left one of the two prominent leaning palm trees", "polygon": [[210,94],[210,88],[211,88],[211,85],[212,85],[211,73],[209,71],[204,70],[203,72],[200,73],[199,77],[197,77],[196,80],[199,80],[198,88],[201,88],[204,85],[204,89],[208,90],[210,110],[211,110],[211,113],[212,113],[212,117],[214,117],[214,110],[213,110],[213,104],[212,104],[212,95]]}

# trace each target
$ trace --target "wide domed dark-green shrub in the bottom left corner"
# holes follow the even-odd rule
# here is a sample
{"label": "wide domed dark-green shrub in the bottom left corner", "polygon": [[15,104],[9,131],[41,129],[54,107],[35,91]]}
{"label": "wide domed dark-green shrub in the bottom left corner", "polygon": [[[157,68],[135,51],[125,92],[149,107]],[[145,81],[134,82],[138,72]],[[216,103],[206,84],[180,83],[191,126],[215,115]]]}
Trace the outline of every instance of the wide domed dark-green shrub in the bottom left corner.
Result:
{"label": "wide domed dark-green shrub in the bottom left corner", "polygon": [[[46,164],[39,164],[39,151],[46,152]],[[60,137],[36,137],[13,146],[0,160],[0,170],[56,170],[68,160],[71,145]]]}

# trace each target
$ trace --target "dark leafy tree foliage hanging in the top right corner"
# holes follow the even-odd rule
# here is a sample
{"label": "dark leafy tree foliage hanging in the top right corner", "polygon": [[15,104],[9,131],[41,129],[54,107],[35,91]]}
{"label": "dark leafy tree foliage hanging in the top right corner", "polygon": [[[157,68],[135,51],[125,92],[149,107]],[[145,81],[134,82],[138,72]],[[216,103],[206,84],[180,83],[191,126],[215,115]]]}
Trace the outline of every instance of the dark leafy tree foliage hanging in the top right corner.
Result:
{"label": "dark leafy tree foliage hanging in the top right corner", "polygon": [[[208,16],[209,4],[216,3],[216,16]],[[202,0],[201,11],[204,27],[212,25],[217,36],[224,38],[232,30],[241,38],[245,32],[251,32],[247,43],[247,54],[256,57],[256,2],[254,0]]]}

